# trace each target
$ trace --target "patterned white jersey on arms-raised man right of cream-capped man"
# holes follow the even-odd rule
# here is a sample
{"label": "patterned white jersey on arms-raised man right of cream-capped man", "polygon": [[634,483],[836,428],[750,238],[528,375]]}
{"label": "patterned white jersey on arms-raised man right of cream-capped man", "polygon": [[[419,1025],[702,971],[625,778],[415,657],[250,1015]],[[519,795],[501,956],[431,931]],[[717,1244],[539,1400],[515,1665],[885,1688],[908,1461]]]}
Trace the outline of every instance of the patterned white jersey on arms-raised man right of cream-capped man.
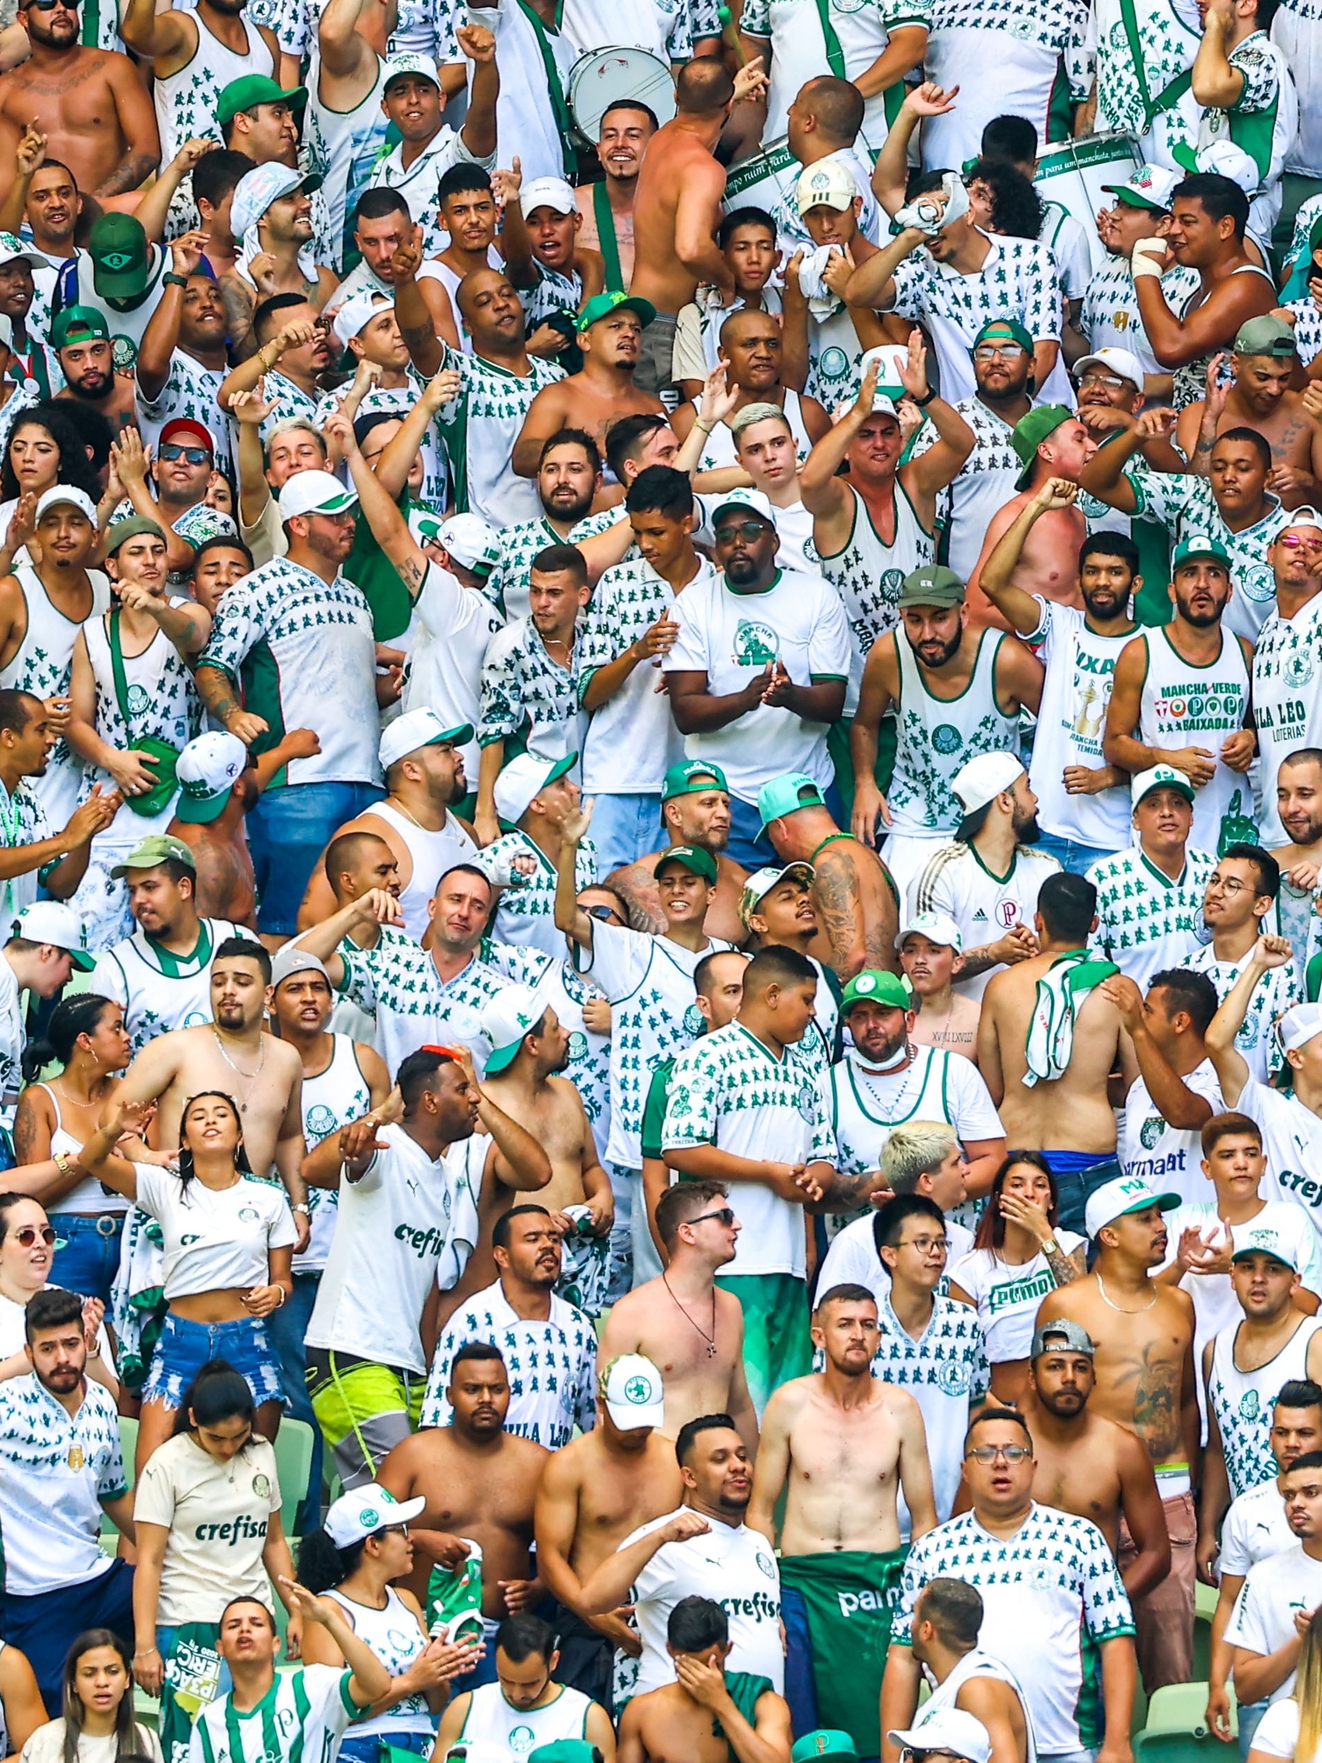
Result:
{"label": "patterned white jersey on arms-raised man right of cream-capped man", "polygon": [[[890,310],[931,331],[941,395],[952,404],[978,390],[973,342],[989,319],[1019,319],[1033,342],[1059,342],[1061,337],[1059,279],[1047,247],[1029,238],[984,238],[991,249],[973,275],[938,263],[922,245],[895,266],[894,275]],[[1068,374],[1058,361],[1047,384],[1038,386],[1040,398],[1054,397],[1058,374],[1068,395]]]}

